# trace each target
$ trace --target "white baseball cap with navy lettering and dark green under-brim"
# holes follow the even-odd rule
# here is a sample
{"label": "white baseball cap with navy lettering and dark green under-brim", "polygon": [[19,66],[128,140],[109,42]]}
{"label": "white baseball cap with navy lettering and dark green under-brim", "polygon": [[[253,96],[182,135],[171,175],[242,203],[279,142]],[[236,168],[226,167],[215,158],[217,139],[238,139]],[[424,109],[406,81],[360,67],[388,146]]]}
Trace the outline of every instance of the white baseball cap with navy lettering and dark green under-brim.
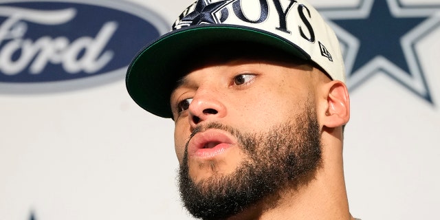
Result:
{"label": "white baseball cap with navy lettering and dark green under-brim", "polygon": [[184,10],[170,32],[133,58],[126,88],[140,107],[171,118],[170,95],[184,76],[184,62],[197,62],[197,56],[206,55],[197,54],[196,48],[237,41],[311,61],[331,79],[345,82],[336,34],[307,1],[198,0]]}

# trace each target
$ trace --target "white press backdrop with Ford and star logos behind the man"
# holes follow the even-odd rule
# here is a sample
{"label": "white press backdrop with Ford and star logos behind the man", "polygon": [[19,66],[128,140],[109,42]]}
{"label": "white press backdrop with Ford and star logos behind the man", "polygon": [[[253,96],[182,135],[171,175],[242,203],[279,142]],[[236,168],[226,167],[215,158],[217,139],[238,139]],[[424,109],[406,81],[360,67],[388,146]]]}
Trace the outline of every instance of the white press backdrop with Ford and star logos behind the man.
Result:
{"label": "white press backdrop with Ford and star logos behind the man", "polygon": [[[0,1],[0,220],[191,219],[172,120],[124,86],[131,57],[189,3]],[[440,1],[311,3],[347,66],[351,212],[438,219]]]}

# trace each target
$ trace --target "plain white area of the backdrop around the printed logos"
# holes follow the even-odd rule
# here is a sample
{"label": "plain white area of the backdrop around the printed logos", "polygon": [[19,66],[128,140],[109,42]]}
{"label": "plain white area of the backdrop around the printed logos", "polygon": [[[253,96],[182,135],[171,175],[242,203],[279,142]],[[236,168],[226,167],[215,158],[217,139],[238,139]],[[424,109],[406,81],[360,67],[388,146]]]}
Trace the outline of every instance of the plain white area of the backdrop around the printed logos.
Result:
{"label": "plain white area of the backdrop around the printed logos", "polygon": [[[171,24],[190,1],[134,3]],[[381,72],[351,92],[344,169],[355,217],[438,219],[438,39],[440,28],[415,45],[434,104]],[[0,220],[191,219],[176,169],[172,120],[137,107],[122,77],[77,91],[0,94]]]}

